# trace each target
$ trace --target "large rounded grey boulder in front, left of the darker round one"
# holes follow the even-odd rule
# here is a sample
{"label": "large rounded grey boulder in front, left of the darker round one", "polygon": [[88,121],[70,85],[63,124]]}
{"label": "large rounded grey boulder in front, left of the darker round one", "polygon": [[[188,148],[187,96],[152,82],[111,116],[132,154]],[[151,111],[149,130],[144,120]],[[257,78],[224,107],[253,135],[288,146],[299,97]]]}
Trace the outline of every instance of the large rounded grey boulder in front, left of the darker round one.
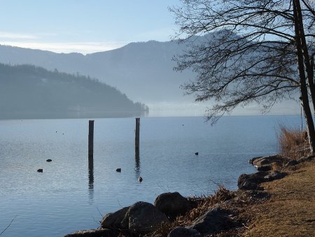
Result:
{"label": "large rounded grey boulder in front, left of the darker round one", "polygon": [[146,234],[154,231],[162,222],[169,222],[163,212],[151,203],[137,202],[127,210],[122,228],[129,229],[131,233]]}

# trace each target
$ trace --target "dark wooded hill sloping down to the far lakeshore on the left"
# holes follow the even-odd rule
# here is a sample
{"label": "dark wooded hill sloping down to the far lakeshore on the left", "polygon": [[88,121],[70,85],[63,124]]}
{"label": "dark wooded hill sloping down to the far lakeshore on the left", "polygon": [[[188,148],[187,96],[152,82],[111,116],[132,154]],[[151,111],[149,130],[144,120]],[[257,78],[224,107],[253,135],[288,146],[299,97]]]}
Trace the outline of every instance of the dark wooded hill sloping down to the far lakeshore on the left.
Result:
{"label": "dark wooded hill sloping down to the far lakeshore on the left", "polygon": [[0,64],[0,119],[141,116],[148,107],[79,74]]}

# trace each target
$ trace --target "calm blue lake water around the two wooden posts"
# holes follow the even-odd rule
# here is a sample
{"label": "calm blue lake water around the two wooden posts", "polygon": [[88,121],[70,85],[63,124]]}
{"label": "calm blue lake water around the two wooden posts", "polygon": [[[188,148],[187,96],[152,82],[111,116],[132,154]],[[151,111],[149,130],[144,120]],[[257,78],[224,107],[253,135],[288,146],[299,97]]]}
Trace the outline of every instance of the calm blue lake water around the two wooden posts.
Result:
{"label": "calm blue lake water around the two wooden posts", "polygon": [[153,203],[167,191],[207,195],[216,183],[237,189],[237,177],[255,171],[248,159],[275,154],[279,124],[298,128],[300,117],[228,116],[215,126],[201,117],[141,118],[139,158],[134,124],[95,119],[89,170],[87,119],[0,121],[0,233],[14,218],[1,237],[96,228],[101,214]]}

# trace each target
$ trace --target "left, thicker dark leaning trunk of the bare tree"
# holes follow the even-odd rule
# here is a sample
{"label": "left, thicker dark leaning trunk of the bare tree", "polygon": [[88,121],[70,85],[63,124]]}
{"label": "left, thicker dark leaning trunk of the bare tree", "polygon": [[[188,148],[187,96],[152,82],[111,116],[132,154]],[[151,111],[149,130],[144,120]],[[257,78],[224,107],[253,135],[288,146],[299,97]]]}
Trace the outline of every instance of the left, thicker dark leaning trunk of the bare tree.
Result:
{"label": "left, thicker dark leaning trunk of the bare tree", "polygon": [[[304,118],[307,125],[307,137],[309,140],[309,149],[311,154],[314,154],[315,148],[315,128],[314,128],[314,121],[311,115],[311,109],[309,107],[309,96],[307,90],[307,83],[306,83],[306,75],[305,75],[305,68],[304,68],[304,57],[303,57],[303,50],[302,50],[302,42],[300,38],[300,24],[298,20],[298,12],[297,12],[297,1],[293,0],[293,15],[294,15],[294,24],[295,24],[295,47],[297,49],[297,64],[299,69],[299,76],[300,76],[300,100],[302,104],[302,108],[304,111]],[[314,85],[314,83],[313,83]]]}

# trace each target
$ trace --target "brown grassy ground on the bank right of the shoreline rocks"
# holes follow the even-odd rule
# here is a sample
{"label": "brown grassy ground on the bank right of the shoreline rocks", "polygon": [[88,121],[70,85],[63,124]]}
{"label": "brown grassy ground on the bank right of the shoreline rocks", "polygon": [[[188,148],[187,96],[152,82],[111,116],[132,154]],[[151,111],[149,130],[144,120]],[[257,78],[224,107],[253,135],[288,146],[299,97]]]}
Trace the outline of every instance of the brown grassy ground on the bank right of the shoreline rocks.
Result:
{"label": "brown grassy ground on the bank right of the shoreline rocks", "polygon": [[271,195],[246,206],[239,236],[315,236],[315,161],[284,170],[288,176],[261,184]]}

